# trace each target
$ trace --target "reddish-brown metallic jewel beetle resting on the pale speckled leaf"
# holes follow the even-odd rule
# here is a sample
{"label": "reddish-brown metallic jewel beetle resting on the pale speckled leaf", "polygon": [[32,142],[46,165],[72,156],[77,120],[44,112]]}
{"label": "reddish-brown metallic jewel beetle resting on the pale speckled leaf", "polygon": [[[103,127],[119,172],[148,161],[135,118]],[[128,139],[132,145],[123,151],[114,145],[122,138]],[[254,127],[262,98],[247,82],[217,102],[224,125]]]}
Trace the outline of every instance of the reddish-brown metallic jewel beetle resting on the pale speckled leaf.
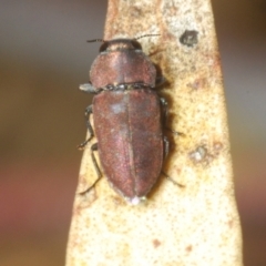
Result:
{"label": "reddish-brown metallic jewel beetle resting on the pale speckled leaf", "polygon": [[96,150],[109,183],[131,204],[139,204],[152,190],[168,151],[163,134],[167,103],[155,91],[156,69],[137,39],[101,40],[90,83],[80,86],[95,94],[85,110],[90,136],[80,147],[96,136],[91,155],[99,178]]}

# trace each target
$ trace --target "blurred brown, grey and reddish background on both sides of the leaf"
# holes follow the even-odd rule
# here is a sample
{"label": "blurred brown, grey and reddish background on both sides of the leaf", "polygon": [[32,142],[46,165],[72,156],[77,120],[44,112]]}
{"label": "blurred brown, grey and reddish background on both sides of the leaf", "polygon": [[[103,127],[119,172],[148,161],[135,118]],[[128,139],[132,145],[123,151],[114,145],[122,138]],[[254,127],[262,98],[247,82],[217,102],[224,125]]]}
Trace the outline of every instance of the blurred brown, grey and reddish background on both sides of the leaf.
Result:
{"label": "blurred brown, grey and reddish background on both sides of the leaf", "polygon": [[[213,0],[246,266],[266,265],[266,1]],[[85,137],[79,92],[106,1],[0,1],[0,265],[64,264]]]}

